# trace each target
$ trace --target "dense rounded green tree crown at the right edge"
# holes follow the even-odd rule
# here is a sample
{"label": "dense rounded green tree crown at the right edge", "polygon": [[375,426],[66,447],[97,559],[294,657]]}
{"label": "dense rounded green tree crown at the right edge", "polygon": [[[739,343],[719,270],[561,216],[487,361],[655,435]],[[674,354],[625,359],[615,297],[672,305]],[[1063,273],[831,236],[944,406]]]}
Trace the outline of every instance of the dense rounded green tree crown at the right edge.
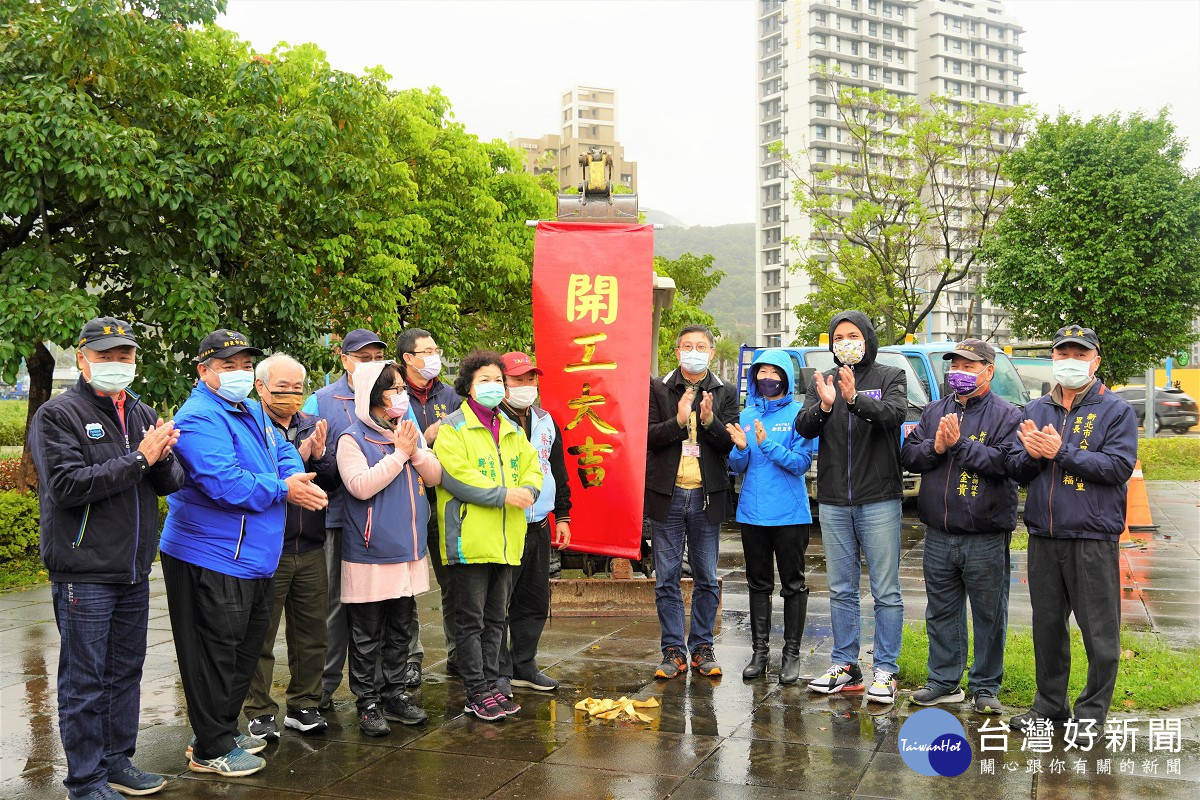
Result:
{"label": "dense rounded green tree crown at the right edge", "polygon": [[1184,349],[1200,313],[1200,178],[1166,112],[1043,119],[1009,160],[1013,203],[985,240],[986,293],[1021,335],[1075,323],[1120,381]]}

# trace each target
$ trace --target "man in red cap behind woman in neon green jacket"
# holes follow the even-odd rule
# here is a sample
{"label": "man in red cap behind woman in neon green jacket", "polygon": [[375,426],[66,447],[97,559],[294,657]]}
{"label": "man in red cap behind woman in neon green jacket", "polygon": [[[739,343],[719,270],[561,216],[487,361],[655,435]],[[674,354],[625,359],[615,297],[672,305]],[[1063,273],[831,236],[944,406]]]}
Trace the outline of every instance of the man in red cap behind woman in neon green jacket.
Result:
{"label": "man in red cap behind woman in neon green jacket", "polygon": [[[526,509],[526,531],[521,566],[512,578],[509,601],[506,640],[500,642],[500,679],[496,687],[512,697],[512,687],[552,692],[558,681],[538,669],[538,642],[550,615],[550,548],[564,549],[571,543],[571,487],[566,482],[563,435],[558,423],[534,407],[541,369],[524,353],[505,353],[504,384],[506,395],[500,405],[504,414],[528,437],[538,451],[545,482],[533,506]],[[554,515],[551,536],[548,516]]]}

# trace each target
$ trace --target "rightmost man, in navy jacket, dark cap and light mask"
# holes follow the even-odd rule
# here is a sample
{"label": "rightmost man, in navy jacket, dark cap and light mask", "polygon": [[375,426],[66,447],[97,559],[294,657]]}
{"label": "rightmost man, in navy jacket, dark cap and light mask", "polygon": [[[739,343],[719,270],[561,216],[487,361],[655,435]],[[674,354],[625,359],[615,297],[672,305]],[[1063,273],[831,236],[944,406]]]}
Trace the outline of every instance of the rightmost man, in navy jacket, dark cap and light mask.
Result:
{"label": "rightmost man, in navy jacket, dark cap and light mask", "polygon": [[[1121,657],[1118,543],[1126,522],[1126,485],[1138,461],[1138,417],[1128,402],[1096,378],[1100,339],[1081,325],[1054,337],[1055,387],[1025,407],[1021,447],[1009,471],[1028,483],[1028,579],[1033,608],[1033,706],[1014,728],[1039,718],[1094,721],[1103,730]],[[1087,650],[1087,682],[1067,697],[1074,612]]]}

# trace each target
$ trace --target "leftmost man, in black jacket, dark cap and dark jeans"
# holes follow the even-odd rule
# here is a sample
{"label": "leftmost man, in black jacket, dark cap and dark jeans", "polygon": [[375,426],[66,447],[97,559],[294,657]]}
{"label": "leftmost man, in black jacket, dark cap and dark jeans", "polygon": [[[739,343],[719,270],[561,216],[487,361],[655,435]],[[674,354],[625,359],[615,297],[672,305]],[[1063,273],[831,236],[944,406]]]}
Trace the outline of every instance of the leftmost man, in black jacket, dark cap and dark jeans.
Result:
{"label": "leftmost man, in black jacket, dark cap and dark jeans", "polygon": [[83,326],[82,377],[34,415],[42,560],[50,573],[59,649],[59,733],[70,800],[114,789],[154,794],[161,775],[133,765],[150,565],[158,500],[184,483],[170,449],[179,433],[126,391],[138,343],[128,323]]}

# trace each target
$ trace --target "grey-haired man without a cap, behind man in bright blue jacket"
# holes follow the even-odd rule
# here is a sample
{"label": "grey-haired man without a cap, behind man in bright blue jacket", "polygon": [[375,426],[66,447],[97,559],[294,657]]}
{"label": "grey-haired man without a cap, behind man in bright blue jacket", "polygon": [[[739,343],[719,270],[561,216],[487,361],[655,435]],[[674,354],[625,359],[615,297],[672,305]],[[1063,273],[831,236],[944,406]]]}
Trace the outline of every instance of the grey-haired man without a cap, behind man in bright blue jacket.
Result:
{"label": "grey-haired man without a cap, behind man in bright blue jacket", "polygon": [[[306,371],[295,359],[276,353],[254,367],[254,391],[263,401],[266,417],[292,443],[304,459],[305,471],[314,473],[317,486],[332,492],[341,486],[334,449],[326,447],[329,423],[300,410],[304,403]],[[288,614],[288,687],[283,726],[302,734],[320,734],[328,728],[318,705],[322,674],[325,670],[329,609],[329,573],[325,566],[325,510],[288,505],[283,523],[283,553],[271,579],[275,601],[258,668],[250,681],[242,709],[250,720],[250,734],[278,739],[278,711],[271,699],[275,673],[275,637],[280,618]]]}

